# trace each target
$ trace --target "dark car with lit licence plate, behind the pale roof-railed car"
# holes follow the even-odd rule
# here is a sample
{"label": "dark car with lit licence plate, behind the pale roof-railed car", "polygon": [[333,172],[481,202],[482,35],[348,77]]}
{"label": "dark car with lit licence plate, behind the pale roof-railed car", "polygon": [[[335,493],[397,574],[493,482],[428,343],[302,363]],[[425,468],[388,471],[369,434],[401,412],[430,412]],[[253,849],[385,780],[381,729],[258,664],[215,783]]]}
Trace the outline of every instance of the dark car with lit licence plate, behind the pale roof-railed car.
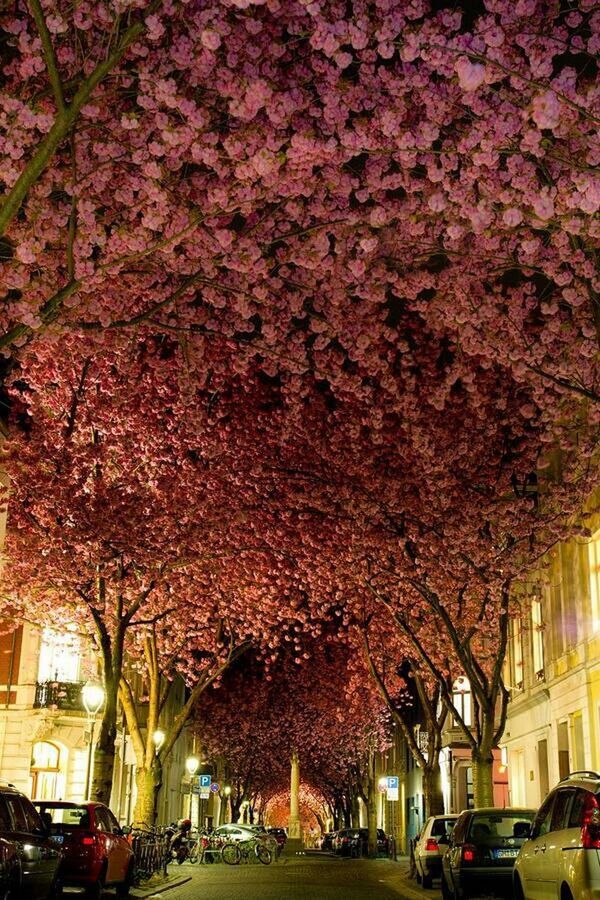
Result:
{"label": "dark car with lit licence plate, behind the pale roof-railed car", "polygon": [[527,840],[534,809],[489,807],[460,814],[442,858],[442,897],[512,893],[512,870]]}

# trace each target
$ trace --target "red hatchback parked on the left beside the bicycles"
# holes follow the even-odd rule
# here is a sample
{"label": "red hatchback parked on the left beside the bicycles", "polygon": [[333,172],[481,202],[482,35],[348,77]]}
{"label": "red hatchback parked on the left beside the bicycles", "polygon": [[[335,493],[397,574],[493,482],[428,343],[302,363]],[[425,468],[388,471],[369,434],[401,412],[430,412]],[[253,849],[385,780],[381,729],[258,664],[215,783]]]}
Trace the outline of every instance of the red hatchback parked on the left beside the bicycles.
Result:
{"label": "red hatchback parked on the left beside the bicycles", "polygon": [[103,803],[37,800],[53,841],[62,848],[59,878],[98,898],[107,885],[128,897],[133,883],[133,851],[115,816]]}

